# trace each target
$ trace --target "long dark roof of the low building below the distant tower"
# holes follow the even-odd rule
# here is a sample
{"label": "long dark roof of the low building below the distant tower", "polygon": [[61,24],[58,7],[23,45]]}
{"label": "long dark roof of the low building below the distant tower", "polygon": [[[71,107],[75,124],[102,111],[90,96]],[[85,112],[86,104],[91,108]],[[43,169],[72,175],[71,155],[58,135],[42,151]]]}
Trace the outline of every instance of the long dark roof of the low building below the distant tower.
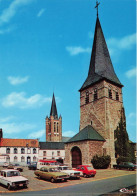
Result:
{"label": "long dark roof of the low building below the distant tower", "polygon": [[64,142],[39,142],[41,150],[64,150]]}

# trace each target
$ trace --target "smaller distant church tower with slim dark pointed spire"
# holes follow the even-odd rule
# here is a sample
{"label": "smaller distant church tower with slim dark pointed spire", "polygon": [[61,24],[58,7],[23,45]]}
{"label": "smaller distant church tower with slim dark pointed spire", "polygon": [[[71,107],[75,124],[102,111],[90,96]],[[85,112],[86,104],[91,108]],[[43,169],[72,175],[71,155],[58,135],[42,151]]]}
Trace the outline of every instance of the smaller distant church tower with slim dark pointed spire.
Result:
{"label": "smaller distant church tower with slim dark pointed spire", "polygon": [[61,142],[62,141],[62,117],[58,118],[55,96],[53,93],[50,117],[46,117],[46,141]]}

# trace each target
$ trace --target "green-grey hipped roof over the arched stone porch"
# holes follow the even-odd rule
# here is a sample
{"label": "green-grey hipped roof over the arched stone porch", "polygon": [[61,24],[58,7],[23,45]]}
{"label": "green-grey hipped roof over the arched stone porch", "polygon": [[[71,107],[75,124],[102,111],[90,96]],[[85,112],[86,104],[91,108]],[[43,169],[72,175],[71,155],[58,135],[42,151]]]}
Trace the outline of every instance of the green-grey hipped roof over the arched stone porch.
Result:
{"label": "green-grey hipped roof over the arched stone porch", "polygon": [[66,143],[83,140],[105,141],[105,139],[91,125],[88,125]]}

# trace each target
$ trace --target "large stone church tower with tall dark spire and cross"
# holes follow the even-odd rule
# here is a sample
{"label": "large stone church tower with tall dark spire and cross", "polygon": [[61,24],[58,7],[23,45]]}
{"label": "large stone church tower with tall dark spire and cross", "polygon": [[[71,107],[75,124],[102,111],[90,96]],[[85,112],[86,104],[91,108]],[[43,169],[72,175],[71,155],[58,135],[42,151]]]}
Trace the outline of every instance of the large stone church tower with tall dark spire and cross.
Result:
{"label": "large stone church tower with tall dark spire and cross", "polygon": [[109,55],[98,17],[88,76],[80,91],[80,131],[91,125],[105,140],[103,154],[115,162],[114,130],[122,115],[122,87]]}

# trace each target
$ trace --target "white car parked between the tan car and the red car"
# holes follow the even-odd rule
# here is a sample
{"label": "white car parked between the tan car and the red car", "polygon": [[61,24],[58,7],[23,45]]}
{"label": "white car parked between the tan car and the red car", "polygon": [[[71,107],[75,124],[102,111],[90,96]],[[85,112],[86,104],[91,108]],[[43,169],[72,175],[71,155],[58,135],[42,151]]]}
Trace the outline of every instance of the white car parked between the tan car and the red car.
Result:
{"label": "white car parked between the tan car and the red car", "polygon": [[58,170],[60,170],[60,172],[65,172],[67,173],[70,178],[80,178],[80,171],[75,171],[72,168],[68,167],[68,166],[58,166],[57,167]]}

